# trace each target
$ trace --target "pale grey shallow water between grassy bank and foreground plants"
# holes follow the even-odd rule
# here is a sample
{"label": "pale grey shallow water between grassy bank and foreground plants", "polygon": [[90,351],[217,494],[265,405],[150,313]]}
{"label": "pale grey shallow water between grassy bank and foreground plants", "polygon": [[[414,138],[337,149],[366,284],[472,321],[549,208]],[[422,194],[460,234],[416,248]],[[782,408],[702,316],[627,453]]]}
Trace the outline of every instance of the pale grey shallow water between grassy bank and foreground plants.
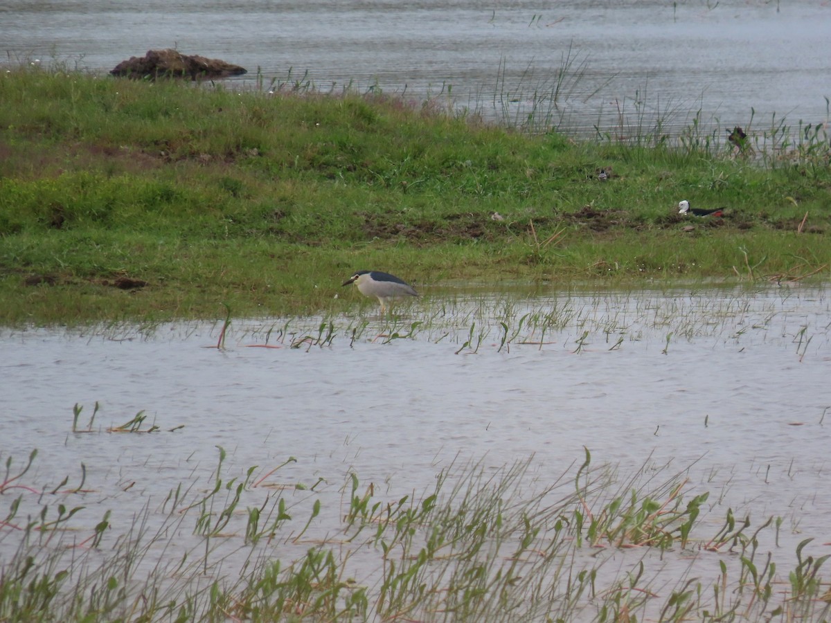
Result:
{"label": "pale grey shallow water between grassy bank and foreground plants", "polygon": [[[213,323],[2,331],[0,459],[22,466],[38,450],[20,481],[31,488],[22,513],[36,512],[45,503],[37,492],[60,488],[65,476],[64,486],[76,487],[83,464],[86,510],[63,538],[88,537],[111,509],[115,539],[142,509],[151,525],[165,518],[165,498],[179,484],[208,491],[221,446],[226,478],[257,466],[255,480],[305,485],[287,495],[297,508],[322,501],[311,533],[324,537],[338,531],[352,472],[398,499],[471,461],[494,470],[533,457],[535,480],[551,482],[589,449],[593,464],[616,468],[621,482],[646,467],[686,472],[690,495],[711,492],[698,538],[713,537],[728,508],[750,516],[751,531],[781,518],[776,538],[771,528],[760,543],[785,582],[804,538],[815,537],[806,553],[831,553],[824,289],[460,290],[428,292],[393,319],[362,309],[325,321],[234,321],[222,350]],[[93,432],[73,433],[73,405],[83,405],[78,428],[86,429],[96,401]],[[141,428],[157,432],[108,432],[140,411]],[[246,495],[258,505],[268,493]],[[67,497],[67,508],[79,503]],[[227,532],[244,532],[244,521]],[[16,534],[0,529],[0,562]],[[176,560],[177,547],[194,546],[189,535],[159,555]],[[284,542],[268,553],[290,560],[307,547]],[[609,557],[617,572],[644,553]],[[716,581],[719,559],[686,553],[654,564],[665,577]],[[233,560],[232,552],[223,573],[234,576]],[[353,573],[371,576],[360,560]]]}

